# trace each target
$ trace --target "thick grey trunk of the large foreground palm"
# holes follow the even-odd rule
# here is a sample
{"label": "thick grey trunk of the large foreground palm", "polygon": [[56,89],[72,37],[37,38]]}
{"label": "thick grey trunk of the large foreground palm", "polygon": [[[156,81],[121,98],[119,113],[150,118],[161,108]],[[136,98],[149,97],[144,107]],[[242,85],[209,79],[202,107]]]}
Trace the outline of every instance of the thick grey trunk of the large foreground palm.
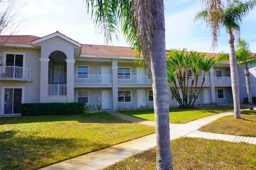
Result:
{"label": "thick grey trunk of the large foreground palm", "polygon": [[156,170],[172,170],[163,0],[154,0],[152,10],[156,25],[152,32],[152,49],[154,51],[153,56],[149,59],[149,64],[152,74],[156,122]]}

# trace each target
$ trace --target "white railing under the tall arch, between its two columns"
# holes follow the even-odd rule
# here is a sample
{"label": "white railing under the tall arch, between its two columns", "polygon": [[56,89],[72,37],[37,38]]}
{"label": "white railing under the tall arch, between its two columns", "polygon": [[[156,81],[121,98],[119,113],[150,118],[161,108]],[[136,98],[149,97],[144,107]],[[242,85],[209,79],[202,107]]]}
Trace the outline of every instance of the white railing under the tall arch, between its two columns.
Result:
{"label": "white railing under the tall arch, between its two columns", "polygon": [[48,96],[66,96],[66,84],[48,84]]}

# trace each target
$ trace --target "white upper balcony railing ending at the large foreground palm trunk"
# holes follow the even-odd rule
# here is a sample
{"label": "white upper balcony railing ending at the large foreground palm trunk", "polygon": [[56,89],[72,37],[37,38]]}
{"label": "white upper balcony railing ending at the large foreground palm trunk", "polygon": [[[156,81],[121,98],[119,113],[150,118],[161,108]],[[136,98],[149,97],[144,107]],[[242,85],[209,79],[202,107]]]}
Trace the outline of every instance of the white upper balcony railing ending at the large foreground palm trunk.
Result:
{"label": "white upper balcony railing ending at the large foreground palm trunk", "polygon": [[152,84],[150,76],[118,75],[118,84]]}

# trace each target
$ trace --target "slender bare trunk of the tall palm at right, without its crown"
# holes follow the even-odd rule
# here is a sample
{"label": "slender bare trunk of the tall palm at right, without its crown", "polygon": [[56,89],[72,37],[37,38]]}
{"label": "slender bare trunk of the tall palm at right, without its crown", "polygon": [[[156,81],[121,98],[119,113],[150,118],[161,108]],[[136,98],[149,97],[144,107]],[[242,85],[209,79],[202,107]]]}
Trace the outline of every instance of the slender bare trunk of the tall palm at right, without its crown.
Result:
{"label": "slender bare trunk of the tall palm at right, without its crown", "polygon": [[239,97],[239,81],[238,70],[236,62],[236,53],[234,47],[234,36],[231,28],[228,31],[228,44],[229,44],[229,62],[230,62],[230,74],[231,74],[231,86],[234,101],[234,117],[240,119],[240,97]]}

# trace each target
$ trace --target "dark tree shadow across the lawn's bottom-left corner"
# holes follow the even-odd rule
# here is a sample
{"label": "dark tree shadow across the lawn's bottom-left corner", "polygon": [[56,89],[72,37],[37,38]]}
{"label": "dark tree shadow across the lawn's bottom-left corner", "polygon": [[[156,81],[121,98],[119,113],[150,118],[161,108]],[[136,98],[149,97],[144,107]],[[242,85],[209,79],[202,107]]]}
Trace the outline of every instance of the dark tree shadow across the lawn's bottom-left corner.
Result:
{"label": "dark tree shadow across the lawn's bottom-left corner", "polygon": [[[90,148],[87,150],[89,153],[111,145],[108,142],[92,143],[85,139],[78,141],[74,138],[20,137],[18,133],[20,133],[18,130],[0,132],[1,170],[34,170],[86,154],[81,148]],[[86,146],[82,143],[86,143]]]}

